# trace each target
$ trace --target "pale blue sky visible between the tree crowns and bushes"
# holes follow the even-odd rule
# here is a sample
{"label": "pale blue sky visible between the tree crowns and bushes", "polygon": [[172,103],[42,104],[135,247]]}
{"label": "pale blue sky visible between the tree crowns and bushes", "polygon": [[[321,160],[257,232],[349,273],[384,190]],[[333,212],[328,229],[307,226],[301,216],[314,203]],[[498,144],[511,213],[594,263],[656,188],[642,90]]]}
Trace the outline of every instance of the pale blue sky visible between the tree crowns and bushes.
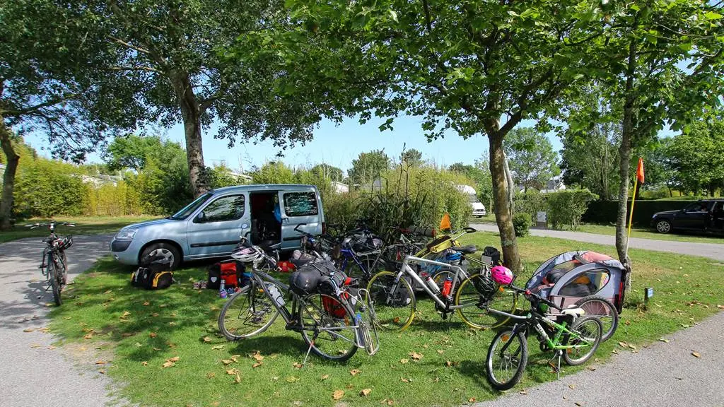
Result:
{"label": "pale blue sky visible between the tree crowns and bushes", "polygon": [[[403,146],[417,148],[422,151],[426,161],[433,161],[439,165],[450,165],[455,162],[473,164],[481,154],[487,152],[488,140],[479,135],[463,140],[457,133],[450,131],[445,138],[428,143],[421,130],[420,117],[400,117],[395,120],[394,130],[379,131],[382,119],[372,119],[365,125],[360,125],[357,119],[345,119],[340,125],[324,120],[314,130],[314,139],[305,146],[287,148],[283,161],[294,167],[311,166],[320,162],[347,170],[352,160],[358,154],[374,149],[384,148],[385,153],[391,157],[399,157]],[[521,126],[533,125],[533,122],[523,122]],[[271,142],[237,143],[228,148],[226,140],[213,138],[215,125],[204,133],[203,155],[206,165],[218,164],[225,161],[229,167],[248,171],[253,165],[261,166],[264,162],[276,159],[279,151]],[[167,129],[165,138],[185,145],[183,127],[178,124]],[[549,136],[555,150],[560,150],[560,140],[555,135]],[[38,150],[43,156],[48,151],[42,147],[47,144],[43,135],[28,135],[26,141]],[[90,162],[101,161],[98,154],[88,157]]]}

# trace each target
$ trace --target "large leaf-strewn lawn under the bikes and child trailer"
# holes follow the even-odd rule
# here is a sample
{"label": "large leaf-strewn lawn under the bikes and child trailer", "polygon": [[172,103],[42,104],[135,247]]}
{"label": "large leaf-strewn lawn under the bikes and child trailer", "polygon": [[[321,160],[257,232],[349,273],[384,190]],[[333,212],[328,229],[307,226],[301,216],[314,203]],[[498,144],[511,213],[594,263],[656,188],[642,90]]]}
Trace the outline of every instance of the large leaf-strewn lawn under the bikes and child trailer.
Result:
{"label": "large leaf-strewn lawn under the bikes and child trailer", "polygon": [[[492,233],[478,232],[463,240],[479,247],[500,246]],[[570,240],[528,237],[519,238],[518,243],[526,265],[518,285],[538,264],[563,251],[588,248],[614,254],[610,246]],[[619,341],[635,344],[638,350],[714,314],[722,303],[724,265],[636,249],[630,255],[634,261],[631,298],[642,298],[644,287],[654,288],[654,298],[646,311],[624,310],[613,339],[597,352],[599,361],[609,358],[612,351],[631,351],[618,345]],[[223,300],[214,290],[192,287],[193,281],[206,278],[203,267],[178,270],[175,277],[180,284],[162,291],[130,287],[131,271],[109,258],[99,261],[64,293],[67,300],[51,312],[50,329],[62,338],[64,348],[85,356],[87,366],[124,384],[120,395],[132,403],[455,406],[500,394],[485,379],[484,359],[492,332],[469,330],[457,315],[452,322],[443,321],[427,298],[418,298],[420,312],[410,329],[382,332],[375,356],[358,351],[346,364],[310,356],[308,364],[298,369],[295,364],[303,361],[306,346],[298,333],[284,329],[281,319],[250,340],[229,343],[219,336],[216,317]],[[540,363],[550,355],[532,342],[530,350],[523,381],[511,391],[555,380],[555,374]],[[255,368],[251,356],[256,352],[264,360]],[[422,357],[415,361],[412,352]],[[173,366],[162,367],[176,357]],[[231,363],[225,366],[224,360]],[[96,361],[109,363],[96,365]],[[239,382],[234,371],[227,374],[231,369],[239,372]],[[586,365],[565,367],[563,374],[581,369]],[[371,390],[369,395],[360,395],[366,389]],[[344,392],[338,401],[332,398],[335,390]]]}

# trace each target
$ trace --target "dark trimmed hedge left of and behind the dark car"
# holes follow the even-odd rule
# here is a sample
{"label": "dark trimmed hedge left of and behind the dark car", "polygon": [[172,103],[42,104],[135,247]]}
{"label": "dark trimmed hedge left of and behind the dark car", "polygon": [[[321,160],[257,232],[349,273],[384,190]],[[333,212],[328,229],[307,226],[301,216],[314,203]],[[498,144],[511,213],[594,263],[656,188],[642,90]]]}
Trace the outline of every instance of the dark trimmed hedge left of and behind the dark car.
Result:
{"label": "dark trimmed hedge left of and behind the dark car", "polygon": [[[688,205],[690,201],[636,201],[633,208],[633,225],[648,227],[656,212],[675,211]],[[631,200],[626,204],[626,217],[631,209]],[[610,224],[616,222],[618,201],[593,201],[581,220],[586,223]],[[628,221],[627,221],[628,222]]]}

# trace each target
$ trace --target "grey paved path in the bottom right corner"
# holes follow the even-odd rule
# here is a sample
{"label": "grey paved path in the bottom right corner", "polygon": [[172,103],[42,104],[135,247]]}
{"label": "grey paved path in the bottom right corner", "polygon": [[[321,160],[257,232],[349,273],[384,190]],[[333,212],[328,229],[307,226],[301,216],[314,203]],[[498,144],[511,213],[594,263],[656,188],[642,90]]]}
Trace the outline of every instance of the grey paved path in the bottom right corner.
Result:
{"label": "grey paved path in the bottom right corner", "polygon": [[[478,407],[722,407],[724,406],[724,312],[657,342],[639,353],[533,388],[509,390]],[[699,353],[696,358],[693,352]]]}

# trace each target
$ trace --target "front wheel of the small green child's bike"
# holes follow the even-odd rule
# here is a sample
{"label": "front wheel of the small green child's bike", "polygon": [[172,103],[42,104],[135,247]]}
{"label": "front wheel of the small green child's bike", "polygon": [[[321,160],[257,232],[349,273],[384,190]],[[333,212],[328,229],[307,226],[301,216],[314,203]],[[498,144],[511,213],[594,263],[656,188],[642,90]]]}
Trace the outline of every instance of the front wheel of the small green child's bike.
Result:
{"label": "front wheel of the small green child's bike", "polygon": [[[508,344],[508,348],[502,348]],[[528,364],[528,341],[523,332],[502,330],[495,335],[485,362],[488,382],[495,390],[508,390],[521,381]]]}

